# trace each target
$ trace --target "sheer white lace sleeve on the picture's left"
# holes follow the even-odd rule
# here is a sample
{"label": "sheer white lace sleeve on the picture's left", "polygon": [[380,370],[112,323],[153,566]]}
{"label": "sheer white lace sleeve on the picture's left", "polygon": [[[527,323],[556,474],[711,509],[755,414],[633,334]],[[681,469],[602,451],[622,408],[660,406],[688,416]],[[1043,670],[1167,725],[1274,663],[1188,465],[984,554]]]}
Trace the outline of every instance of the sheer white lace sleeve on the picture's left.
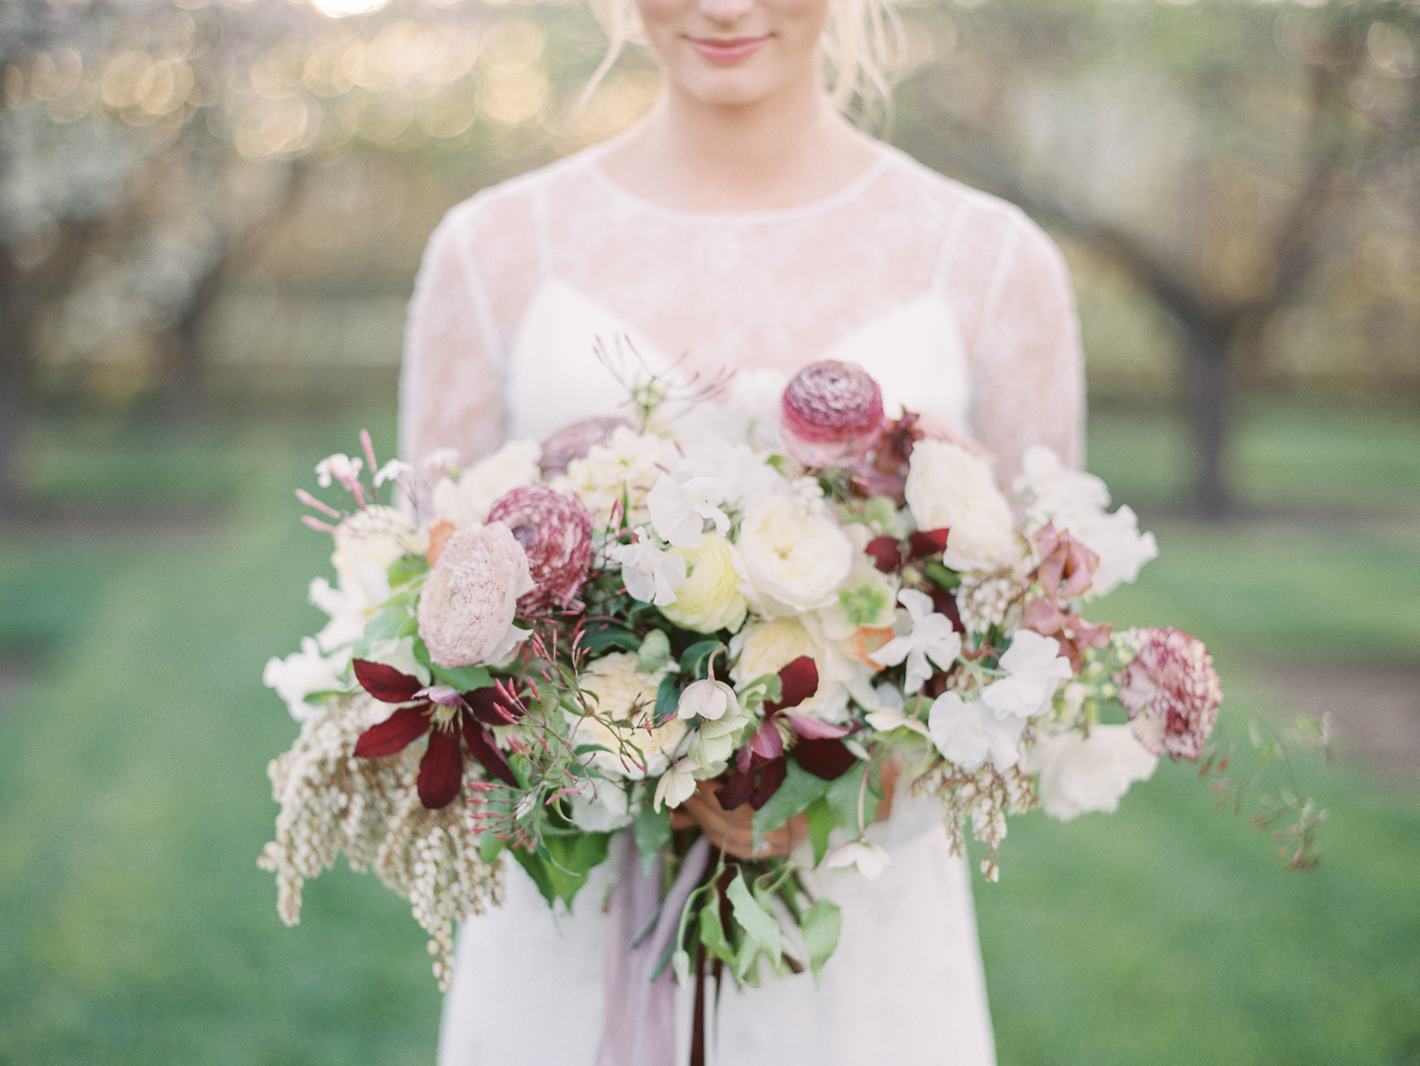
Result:
{"label": "sheer white lace sleeve on the picture's left", "polygon": [[410,463],[453,447],[467,464],[504,436],[501,339],[470,237],[467,211],[454,209],[415,282],[399,382],[399,444]]}

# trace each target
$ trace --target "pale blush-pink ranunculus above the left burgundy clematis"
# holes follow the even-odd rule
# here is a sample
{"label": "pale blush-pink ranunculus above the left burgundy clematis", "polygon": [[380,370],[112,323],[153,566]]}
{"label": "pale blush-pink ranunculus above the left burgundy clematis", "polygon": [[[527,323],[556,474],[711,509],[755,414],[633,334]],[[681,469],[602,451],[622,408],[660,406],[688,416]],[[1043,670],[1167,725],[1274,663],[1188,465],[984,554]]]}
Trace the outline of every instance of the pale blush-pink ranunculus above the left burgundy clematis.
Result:
{"label": "pale blush-pink ranunculus above the left burgundy clematis", "polygon": [[507,525],[459,529],[419,595],[419,636],[429,657],[453,670],[507,654],[518,596],[534,588],[527,552]]}

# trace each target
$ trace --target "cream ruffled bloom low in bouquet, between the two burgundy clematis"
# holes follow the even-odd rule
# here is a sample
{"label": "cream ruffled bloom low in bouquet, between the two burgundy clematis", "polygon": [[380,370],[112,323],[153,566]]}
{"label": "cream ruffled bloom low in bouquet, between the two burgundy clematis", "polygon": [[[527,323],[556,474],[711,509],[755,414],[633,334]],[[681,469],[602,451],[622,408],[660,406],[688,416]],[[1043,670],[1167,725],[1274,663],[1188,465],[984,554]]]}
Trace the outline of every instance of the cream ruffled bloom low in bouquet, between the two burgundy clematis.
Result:
{"label": "cream ruffled bloom low in bouquet, between the two burgundy clematis", "polygon": [[[689,731],[679,718],[648,728],[656,710],[660,678],[672,664],[643,674],[636,670],[636,663],[638,657],[630,652],[612,652],[595,660],[577,684],[588,693],[588,704],[596,717],[568,714],[577,730],[577,744],[606,748],[592,752],[591,765],[608,776],[628,781],[663,774]],[[611,722],[602,718],[611,718]]]}

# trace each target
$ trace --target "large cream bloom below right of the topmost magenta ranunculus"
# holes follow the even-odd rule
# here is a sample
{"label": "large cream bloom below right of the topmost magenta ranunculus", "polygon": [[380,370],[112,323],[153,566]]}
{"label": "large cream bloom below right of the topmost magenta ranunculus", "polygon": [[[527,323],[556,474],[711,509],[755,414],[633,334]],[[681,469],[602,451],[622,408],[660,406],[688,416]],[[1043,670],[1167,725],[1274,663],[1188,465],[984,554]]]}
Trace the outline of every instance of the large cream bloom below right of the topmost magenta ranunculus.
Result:
{"label": "large cream bloom below right of the topmost magenta ranunculus", "polygon": [[919,529],[951,531],[949,566],[994,571],[1021,555],[1011,507],[984,458],[944,440],[919,440],[905,491]]}

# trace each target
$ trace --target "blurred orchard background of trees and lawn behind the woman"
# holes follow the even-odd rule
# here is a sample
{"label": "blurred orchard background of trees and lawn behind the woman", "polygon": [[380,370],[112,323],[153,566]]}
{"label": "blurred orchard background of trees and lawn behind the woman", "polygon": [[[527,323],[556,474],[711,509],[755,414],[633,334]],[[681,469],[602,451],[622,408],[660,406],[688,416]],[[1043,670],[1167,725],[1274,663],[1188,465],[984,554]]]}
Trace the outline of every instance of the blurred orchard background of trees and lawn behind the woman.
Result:
{"label": "blurred orchard background of trees and lawn behind the woman", "polygon": [[[1331,711],[1284,876],[1163,766],[978,886],[1005,1066],[1420,1063],[1420,3],[916,0],[895,143],[1071,263],[1091,467],[1214,647],[1223,725]],[[318,625],[291,490],[382,453],[423,243],[623,129],[574,3],[0,4],[0,1063],[429,1062],[372,879],[254,867]],[[1308,776],[1309,775],[1309,776]],[[944,1039],[949,1039],[944,1035]]]}

